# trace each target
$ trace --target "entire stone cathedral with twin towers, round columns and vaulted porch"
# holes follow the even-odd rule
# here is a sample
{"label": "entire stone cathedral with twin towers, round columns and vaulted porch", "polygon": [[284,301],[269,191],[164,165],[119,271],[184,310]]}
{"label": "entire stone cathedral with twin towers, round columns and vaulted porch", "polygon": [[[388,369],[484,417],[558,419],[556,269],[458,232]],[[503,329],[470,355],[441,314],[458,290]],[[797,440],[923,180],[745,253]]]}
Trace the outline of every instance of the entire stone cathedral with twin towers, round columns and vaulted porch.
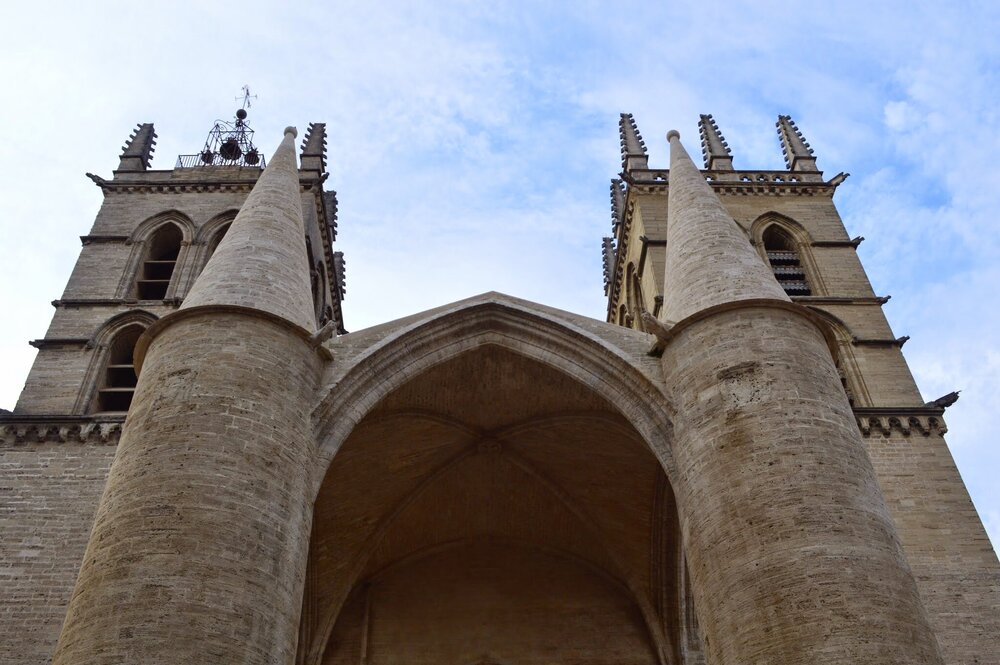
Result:
{"label": "entire stone cathedral with twin towers, round columns and vaulted porch", "polygon": [[788,116],[784,170],[699,130],[653,167],[621,115],[603,319],[348,333],[323,123],[265,156],[241,110],[167,170],[138,125],[0,412],[0,661],[1000,664],[956,395],[917,390],[847,175]]}

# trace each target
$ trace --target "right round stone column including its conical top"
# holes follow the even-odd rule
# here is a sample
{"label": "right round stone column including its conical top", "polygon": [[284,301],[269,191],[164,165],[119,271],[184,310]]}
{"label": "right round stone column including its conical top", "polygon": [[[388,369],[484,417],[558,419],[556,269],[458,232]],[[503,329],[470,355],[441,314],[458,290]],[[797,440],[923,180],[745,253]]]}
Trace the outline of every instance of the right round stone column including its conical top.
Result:
{"label": "right round stone column including its conical top", "polygon": [[709,663],[940,663],[821,328],[668,139],[663,370]]}

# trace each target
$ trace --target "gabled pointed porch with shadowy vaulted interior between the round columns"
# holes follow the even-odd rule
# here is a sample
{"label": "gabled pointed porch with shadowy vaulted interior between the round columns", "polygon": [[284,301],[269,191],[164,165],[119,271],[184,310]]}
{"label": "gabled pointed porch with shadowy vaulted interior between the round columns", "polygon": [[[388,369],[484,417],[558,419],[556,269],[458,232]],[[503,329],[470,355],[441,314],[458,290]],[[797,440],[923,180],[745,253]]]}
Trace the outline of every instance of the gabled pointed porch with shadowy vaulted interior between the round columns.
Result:
{"label": "gabled pointed porch with shadowy vaulted interior between the round columns", "polygon": [[648,336],[487,294],[342,342],[300,662],[679,662]]}

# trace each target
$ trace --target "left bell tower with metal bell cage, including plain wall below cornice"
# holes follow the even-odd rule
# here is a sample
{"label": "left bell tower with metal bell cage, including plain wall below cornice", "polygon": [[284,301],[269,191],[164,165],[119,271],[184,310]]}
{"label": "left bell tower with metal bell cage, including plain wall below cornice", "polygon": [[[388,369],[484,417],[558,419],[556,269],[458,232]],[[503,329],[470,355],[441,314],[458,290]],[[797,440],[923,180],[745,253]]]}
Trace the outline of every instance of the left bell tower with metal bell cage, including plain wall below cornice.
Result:
{"label": "left bell tower with metal bell cage, including plain wall below cornice", "polygon": [[[31,342],[38,354],[17,405],[0,414],[0,462],[13,464],[18,478],[3,490],[18,508],[0,538],[0,559],[19,571],[0,593],[10,610],[0,625],[4,662],[52,658],[96,500],[132,411],[139,340],[188,301],[266,166],[248,116],[241,108],[216,121],[201,150],[165,169],[154,166],[153,124],[141,123],[110,176],[87,174],[103,203],[52,303],[48,330]],[[344,331],[344,259],[334,245],[337,196],[325,185],[325,125],[309,124],[298,150],[288,150],[301,207],[303,316],[310,329]],[[189,355],[198,342],[184,344],[190,348],[179,352]]]}

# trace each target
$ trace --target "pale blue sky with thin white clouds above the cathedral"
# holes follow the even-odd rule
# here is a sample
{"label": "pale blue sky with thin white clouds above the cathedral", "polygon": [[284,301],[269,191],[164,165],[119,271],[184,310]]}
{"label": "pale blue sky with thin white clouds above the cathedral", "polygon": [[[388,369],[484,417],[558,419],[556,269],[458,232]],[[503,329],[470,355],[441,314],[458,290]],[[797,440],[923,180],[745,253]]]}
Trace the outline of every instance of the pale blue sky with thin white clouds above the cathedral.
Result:
{"label": "pale blue sky with thin white clouds above the cathedral", "polygon": [[[640,5],[649,5],[640,6]],[[349,330],[497,290],[603,318],[631,112],[653,167],[712,113],[737,168],[790,114],[1000,543],[1000,3],[50,2],[0,25],[0,408],[13,408],[138,122],[153,168],[249,84],[270,154],[327,123]],[[300,134],[301,135],[301,134]]]}

